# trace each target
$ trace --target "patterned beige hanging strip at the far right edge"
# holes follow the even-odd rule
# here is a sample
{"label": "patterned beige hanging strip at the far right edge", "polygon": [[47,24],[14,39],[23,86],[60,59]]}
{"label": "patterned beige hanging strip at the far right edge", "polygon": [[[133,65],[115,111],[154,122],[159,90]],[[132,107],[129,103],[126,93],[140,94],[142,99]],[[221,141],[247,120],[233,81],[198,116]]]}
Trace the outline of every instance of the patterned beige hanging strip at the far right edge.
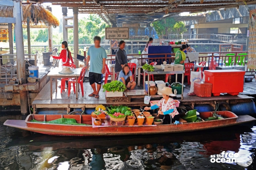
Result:
{"label": "patterned beige hanging strip at the far right edge", "polygon": [[247,68],[256,69],[256,9],[250,10]]}

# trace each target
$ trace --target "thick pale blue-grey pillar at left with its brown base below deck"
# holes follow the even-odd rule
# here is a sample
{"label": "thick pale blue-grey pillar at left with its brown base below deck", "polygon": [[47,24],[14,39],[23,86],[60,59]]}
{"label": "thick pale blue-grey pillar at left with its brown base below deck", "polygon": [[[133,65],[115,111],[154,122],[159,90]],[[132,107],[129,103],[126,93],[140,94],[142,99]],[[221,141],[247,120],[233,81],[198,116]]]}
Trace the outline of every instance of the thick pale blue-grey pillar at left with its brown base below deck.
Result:
{"label": "thick pale blue-grey pillar at left with its brown base below deck", "polygon": [[[17,72],[19,83],[26,83],[26,70],[25,70],[25,56],[23,44],[23,30],[22,30],[22,14],[21,14],[21,1],[13,1],[13,17],[16,18],[15,39],[16,39],[16,54],[17,54]],[[28,96],[26,91],[20,91],[20,109],[21,114],[28,114]]]}

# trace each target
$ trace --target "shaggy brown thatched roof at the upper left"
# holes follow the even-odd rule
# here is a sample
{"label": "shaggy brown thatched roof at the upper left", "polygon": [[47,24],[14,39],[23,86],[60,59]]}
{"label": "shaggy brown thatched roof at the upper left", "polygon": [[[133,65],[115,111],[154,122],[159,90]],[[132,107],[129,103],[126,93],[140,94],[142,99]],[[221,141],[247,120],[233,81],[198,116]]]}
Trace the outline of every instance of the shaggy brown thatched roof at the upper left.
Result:
{"label": "shaggy brown thatched roof at the upper left", "polygon": [[[53,25],[54,27],[59,26],[60,22],[50,12],[45,9],[42,5],[37,4],[22,4],[23,8],[23,24],[27,24],[26,18],[30,19],[30,25]],[[13,17],[13,7],[0,6],[0,17]]]}

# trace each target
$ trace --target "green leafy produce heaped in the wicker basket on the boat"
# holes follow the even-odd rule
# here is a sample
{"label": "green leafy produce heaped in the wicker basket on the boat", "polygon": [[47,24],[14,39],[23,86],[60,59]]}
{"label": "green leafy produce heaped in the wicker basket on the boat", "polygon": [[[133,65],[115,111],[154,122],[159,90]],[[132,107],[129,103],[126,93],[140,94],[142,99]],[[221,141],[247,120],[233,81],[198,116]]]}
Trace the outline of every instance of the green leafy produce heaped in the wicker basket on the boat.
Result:
{"label": "green leafy produce heaped in the wicker basket on the boat", "polygon": [[[107,107],[107,113],[109,116],[113,118],[124,118],[125,116],[132,115],[132,112],[129,109],[131,108],[127,106],[110,106],[110,107]],[[115,116],[117,115],[115,113],[120,113],[120,114],[118,114],[118,116]]]}

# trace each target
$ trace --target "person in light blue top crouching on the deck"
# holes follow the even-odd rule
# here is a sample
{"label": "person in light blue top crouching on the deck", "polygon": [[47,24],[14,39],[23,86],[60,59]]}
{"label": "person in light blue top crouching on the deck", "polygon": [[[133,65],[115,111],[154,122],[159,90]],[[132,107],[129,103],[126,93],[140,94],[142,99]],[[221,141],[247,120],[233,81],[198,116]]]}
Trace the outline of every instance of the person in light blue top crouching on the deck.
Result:
{"label": "person in light blue top crouching on the deck", "polygon": [[122,71],[119,73],[118,81],[123,82],[126,86],[126,90],[133,90],[136,86],[135,81],[133,81],[133,75],[130,71],[130,67],[128,64],[124,64]]}

